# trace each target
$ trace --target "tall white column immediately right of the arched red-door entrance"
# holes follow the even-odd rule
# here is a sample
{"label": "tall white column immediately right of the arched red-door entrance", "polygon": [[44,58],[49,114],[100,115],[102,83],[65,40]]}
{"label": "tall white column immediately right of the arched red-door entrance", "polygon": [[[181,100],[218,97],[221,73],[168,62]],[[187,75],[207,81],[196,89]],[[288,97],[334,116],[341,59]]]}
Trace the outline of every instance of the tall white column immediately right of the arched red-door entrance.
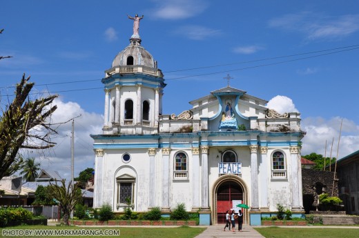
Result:
{"label": "tall white column immediately right of the arched red-door entrance", "polygon": [[249,146],[251,149],[251,210],[257,210],[258,203],[258,158],[257,145]]}

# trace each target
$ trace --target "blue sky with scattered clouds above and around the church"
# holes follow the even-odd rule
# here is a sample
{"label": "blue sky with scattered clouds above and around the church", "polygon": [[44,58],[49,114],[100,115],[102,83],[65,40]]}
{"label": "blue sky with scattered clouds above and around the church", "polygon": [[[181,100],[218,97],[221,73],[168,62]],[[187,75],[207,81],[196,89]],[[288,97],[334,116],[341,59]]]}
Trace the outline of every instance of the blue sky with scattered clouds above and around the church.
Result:
{"label": "blue sky with scattered clouds above and around the church", "polygon": [[[81,112],[75,171],[93,166],[88,135],[101,132],[101,78],[128,46],[127,14],[136,13],[144,14],[142,46],[165,75],[165,114],[188,110],[188,101],[225,87],[229,73],[233,88],[301,113],[303,155],[324,154],[325,140],[328,155],[334,137],[336,157],[341,119],[339,157],[359,150],[358,1],[2,1],[0,55],[13,58],[0,60],[1,106],[25,72],[37,83],[34,91],[59,94],[56,119]],[[309,52],[316,53],[302,54]],[[293,54],[300,55],[284,57]],[[54,150],[30,155],[67,176],[70,125],[59,130]]]}

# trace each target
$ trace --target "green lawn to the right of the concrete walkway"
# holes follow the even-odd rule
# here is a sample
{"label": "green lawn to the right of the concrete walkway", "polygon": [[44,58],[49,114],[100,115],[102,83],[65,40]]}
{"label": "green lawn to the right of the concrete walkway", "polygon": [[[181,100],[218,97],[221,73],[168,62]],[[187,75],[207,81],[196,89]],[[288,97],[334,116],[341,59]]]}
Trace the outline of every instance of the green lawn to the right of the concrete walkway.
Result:
{"label": "green lawn to the right of the concrete walkway", "polygon": [[266,238],[357,238],[358,229],[352,228],[254,228]]}

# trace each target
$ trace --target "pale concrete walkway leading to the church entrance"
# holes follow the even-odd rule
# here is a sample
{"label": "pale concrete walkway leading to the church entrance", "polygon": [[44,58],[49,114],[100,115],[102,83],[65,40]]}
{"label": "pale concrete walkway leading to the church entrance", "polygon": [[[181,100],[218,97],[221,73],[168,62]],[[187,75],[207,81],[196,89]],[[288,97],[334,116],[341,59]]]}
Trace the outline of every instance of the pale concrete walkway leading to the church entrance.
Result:
{"label": "pale concrete walkway leading to the church entrance", "polygon": [[[255,238],[264,238],[264,236],[260,235],[257,230],[254,230],[253,227],[249,225],[243,225],[243,230],[239,232],[235,230],[235,232],[229,231],[228,228],[226,231],[223,231],[224,224],[222,225],[212,225],[208,226],[204,232],[200,235],[197,235],[195,238],[228,238],[228,237],[255,237]],[[237,228],[237,227],[236,227]]]}

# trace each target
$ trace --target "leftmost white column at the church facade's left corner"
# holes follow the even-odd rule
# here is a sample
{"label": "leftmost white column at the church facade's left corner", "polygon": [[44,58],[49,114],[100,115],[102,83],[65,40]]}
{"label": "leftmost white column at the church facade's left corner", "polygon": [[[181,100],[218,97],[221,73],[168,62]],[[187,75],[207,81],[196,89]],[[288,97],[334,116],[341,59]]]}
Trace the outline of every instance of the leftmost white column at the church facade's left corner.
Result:
{"label": "leftmost white column at the church facade's left corner", "polygon": [[94,183],[94,193],[93,193],[93,207],[101,208],[104,202],[103,189],[103,174],[104,174],[104,150],[96,150],[95,157],[95,183]]}

